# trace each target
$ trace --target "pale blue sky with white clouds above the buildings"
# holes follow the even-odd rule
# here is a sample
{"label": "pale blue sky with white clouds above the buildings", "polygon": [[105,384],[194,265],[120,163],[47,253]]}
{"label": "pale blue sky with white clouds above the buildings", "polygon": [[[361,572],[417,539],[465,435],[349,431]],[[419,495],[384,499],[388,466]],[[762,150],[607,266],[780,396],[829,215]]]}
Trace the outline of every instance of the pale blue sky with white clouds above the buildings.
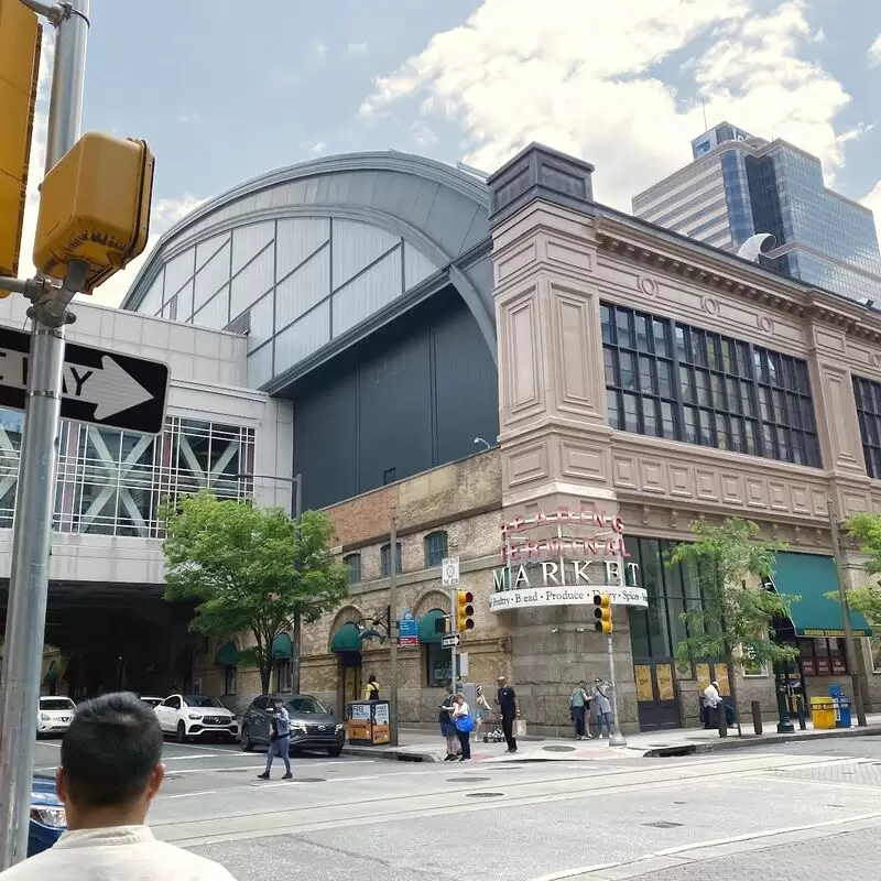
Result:
{"label": "pale blue sky with white clouds above the buildings", "polygon": [[[243,180],[389,148],[490,172],[541,141],[592,162],[596,197],[629,210],[689,161],[705,113],[815,153],[881,219],[878,0],[91,0],[91,19],[84,131],[153,149],[151,244]],[[117,304],[137,269],[95,300]]]}

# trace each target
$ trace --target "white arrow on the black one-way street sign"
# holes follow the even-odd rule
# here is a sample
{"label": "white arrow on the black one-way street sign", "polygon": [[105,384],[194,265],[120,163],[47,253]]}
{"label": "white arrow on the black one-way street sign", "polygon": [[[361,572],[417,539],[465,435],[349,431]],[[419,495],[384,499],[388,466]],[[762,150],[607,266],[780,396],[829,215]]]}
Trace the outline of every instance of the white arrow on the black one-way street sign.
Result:
{"label": "white arrow on the black one-way street sign", "polygon": [[[28,388],[28,354],[0,349],[0,384]],[[80,367],[65,361],[62,395],[95,404],[95,418],[106,420],[124,410],[151,401],[153,395],[109,355],[101,366]]]}

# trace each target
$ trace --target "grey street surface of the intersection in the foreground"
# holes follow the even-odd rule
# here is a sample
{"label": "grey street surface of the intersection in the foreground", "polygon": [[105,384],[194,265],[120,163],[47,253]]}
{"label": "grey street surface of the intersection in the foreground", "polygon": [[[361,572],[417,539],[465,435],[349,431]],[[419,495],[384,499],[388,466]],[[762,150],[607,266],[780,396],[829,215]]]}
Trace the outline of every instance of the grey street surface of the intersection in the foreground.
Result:
{"label": "grey street surface of the intersection in the foreground", "polygon": [[[291,782],[276,760],[268,783],[257,780],[264,757],[238,747],[170,743],[164,758],[155,834],[239,881],[377,872],[389,881],[463,872],[825,881],[833,858],[834,874],[873,878],[881,864],[881,738],[687,759],[609,750],[595,761],[463,765],[315,755],[292,760]],[[37,765],[56,761],[57,746],[41,742]]]}

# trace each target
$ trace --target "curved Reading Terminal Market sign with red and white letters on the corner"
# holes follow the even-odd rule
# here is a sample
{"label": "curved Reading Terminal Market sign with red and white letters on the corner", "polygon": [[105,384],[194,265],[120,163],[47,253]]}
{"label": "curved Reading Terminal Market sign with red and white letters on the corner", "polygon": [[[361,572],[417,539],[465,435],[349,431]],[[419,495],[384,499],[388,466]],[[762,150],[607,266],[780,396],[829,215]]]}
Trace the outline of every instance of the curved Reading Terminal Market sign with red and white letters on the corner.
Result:
{"label": "curved Reading Terminal Market sign with red and white letters on the corner", "polygon": [[[576,530],[595,534],[564,534]],[[545,537],[530,537],[536,531]],[[556,535],[548,537],[553,532]],[[496,590],[489,598],[490,611],[589,606],[602,594],[616,606],[649,606],[618,514],[596,508],[558,508],[502,523],[501,534],[503,565],[492,572]]]}

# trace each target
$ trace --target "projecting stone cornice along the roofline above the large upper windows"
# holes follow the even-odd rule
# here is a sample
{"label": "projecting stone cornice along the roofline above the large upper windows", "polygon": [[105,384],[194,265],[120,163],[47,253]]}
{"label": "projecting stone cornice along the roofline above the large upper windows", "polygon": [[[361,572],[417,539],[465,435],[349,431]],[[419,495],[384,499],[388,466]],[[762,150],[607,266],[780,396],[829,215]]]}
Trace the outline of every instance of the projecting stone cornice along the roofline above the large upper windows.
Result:
{"label": "projecting stone cornice along the roofline above the large upper windows", "polygon": [[881,315],[868,306],[825,293],[770,272],[721,251],[653,235],[613,217],[597,218],[600,251],[621,254],[671,275],[749,300],[765,308],[826,324],[870,342],[881,342]]}

